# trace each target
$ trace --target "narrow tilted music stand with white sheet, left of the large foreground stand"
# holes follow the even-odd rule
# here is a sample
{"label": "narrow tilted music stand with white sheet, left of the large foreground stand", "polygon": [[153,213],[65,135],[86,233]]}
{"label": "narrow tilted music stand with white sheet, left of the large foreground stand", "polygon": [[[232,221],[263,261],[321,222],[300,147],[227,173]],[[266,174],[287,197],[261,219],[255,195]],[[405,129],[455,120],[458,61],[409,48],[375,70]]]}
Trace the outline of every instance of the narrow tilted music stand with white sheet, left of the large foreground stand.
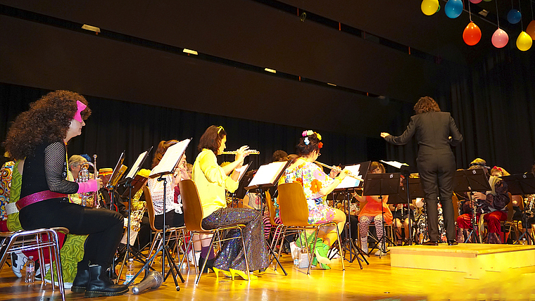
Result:
{"label": "narrow tilted music stand with white sheet, left of the large foreground stand", "polygon": [[[143,153],[139,154],[137,156],[137,160],[134,162],[134,165],[132,165],[132,168],[130,169],[130,172],[128,172],[127,176],[125,177],[125,187],[128,189],[128,194],[126,193],[126,191],[124,193],[122,193],[122,197],[124,198],[125,195],[127,194],[128,196],[128,210],[127,210],[127,214],[128,214],[128,221],[127,221],[127,239],[126,239],[126,251],[125,251],[125,257],[122,258],[122,264],[121,264],[121,267],[119,269],[119,275],[122,274],[122,268],[125,267],[125,263],[127,262],[127,260],[130,259],[130,255],[132,255],[132,257],[135,257],[137,258],[137,260],[141,261],[141,263],[145,264],[145,260],[143,260],[139,254],[139,250],[137,252],[132,252],[132,249],[130,248],[130,227],[131,227],[131,224],[132,224],[132,219],[130,217],[130,214],[132,213],[132,188],[137,188],[136,191],[138,191],[141,186],[143,186],[147,179],[145,177],[141,177],[139,175],[136,176],[137,172],[139,172],[139,168],[141,167],[141,165],[143,165],[143,163],[145,162],[146,158],[149,156],[149,153],[151,153],[152,151],[152,146],[151,148],[149,148],[149,150],[147,151],[144,151]],[[112,174],[113,176],[113,174]],[[130,284],[132,284],[134,282],[136,277],[130,279],[130,281],[128,281],[127,283],[127,286],[130,286]],[[118,278],[118,281],[119,281],[119,278]]]}

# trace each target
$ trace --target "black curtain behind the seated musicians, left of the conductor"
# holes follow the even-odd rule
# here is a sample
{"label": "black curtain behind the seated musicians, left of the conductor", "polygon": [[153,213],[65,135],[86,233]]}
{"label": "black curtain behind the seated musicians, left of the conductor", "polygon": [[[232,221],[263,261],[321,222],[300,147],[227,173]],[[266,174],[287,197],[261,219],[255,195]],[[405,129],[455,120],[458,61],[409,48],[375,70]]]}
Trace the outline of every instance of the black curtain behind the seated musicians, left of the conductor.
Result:
{"label": "black curtain behind the seated musicians, left of the conductor", "polygon": [[[6,139],[9,124],[15,117],[29,108],[49,90],[0,84],[0,139]],[[87,153],[98,155],[97,167],[114,167],[120,153],[125,150],[125,165],[130,167],[139,153],[161,140],[192,138],[187,149],[187,161],[193,163],[199,153],[196,146],[205,129],[222,125],[227,132],[227,150],[232,151],[248,145],[260,151],[250,155],[251,168],[258,168],[271,162],[272,153],[279,149],[294,153],[303,128],[256,122],[252,120],[195,113],[185,110],[162,108],[152,105],[115,101],[85,96],[92,115],[86,120],[82,135],[72,139],[68,146],[69,155]],[[325,144],[320,162],[326,164],[354,164],[366,160],[381,160],[386,157],[386,143],[383,139],[332,132],[320,132]],[[4,153],[4,146],[1,147]],[[150,169],[150,159],[143,165]],[[220,162],[232,161],[234,156],[219,156]]]}

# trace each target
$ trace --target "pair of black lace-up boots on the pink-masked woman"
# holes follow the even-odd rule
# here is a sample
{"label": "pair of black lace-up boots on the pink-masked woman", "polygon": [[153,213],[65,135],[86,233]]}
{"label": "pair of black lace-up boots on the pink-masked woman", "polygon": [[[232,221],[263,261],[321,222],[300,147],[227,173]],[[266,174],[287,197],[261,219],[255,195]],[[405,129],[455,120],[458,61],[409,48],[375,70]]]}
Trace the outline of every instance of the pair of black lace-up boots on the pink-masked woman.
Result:
{"label": "pair of black lace-up boots on the pink-masked woman", "polygon": [[82,267],[80,265],[79,262],[73,287],[70,288],[74,293],[85,292],[85,297],[100,297],[118,296],[128,292],[128,286],[113,283],[103,267],[94,264],[84,269],[83,264]]}

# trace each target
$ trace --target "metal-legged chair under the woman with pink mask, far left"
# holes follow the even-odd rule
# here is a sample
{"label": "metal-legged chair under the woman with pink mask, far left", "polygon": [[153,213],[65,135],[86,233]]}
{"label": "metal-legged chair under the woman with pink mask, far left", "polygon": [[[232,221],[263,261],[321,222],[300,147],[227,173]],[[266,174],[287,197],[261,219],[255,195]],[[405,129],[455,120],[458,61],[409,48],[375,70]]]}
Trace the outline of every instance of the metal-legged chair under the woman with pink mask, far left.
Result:
{"label": "metal-legged chair under the woman with pink mask, far left", "polygon": [[[20,251],[29,251],[29,250],[38,250],[39,251],[39,262],[44,262],[43,250],[49,248],[49,260],[52,262],[52,258],[56,260],[56,264],[53,266],[56,267],[56,275],[58,276],[58,286],[61,294],[61,299],[65,301],[65,287],[63,286],[63,270],[61,269],[61,255],[60,255],[60,243],[58,240],[58,232],[68,234],[69,230],[63,227],[57,228],[46,228],[46,229],[36,229],[29,231],[13,231],[13,232],[0,232],[0,269],[4,267],[4,263],[11,253],[20,252]],[[44,240],[43,238],[47,239]],[[36,258],[37,260],[37,258]],[[44,270],[45,264],[40,264],[39,268],[41,269],[42,283],[46,285],[44,281],[44,275],[46,271]],[[52,290],[56,290],[54,286],[54,272],[50,273],[52,281]]]}

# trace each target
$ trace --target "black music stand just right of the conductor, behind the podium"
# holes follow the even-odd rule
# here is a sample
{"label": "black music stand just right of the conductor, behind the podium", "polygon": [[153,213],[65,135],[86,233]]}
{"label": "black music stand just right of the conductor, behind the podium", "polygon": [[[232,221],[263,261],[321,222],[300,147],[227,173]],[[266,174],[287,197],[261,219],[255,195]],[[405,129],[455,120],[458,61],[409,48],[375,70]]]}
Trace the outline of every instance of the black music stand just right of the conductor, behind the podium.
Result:
{"label": "black music stand just right of the conductor, behind the podium", "polygon": [[[489,191],[491,190],[491,185],[489,184],[489,178],[487,177],[484,169],[461,169],[455,171],[455,176],[453,177],[453,191],[456,192],[467,192],[469,201],[472,202],[472,192],[473,191]],[[472,204],[472,231],[470,235],[466,238],[465,243],[467,243],[472,234],[474,235],[474,242],[479,243],[479,233],[477,229],[477,202]]]}

